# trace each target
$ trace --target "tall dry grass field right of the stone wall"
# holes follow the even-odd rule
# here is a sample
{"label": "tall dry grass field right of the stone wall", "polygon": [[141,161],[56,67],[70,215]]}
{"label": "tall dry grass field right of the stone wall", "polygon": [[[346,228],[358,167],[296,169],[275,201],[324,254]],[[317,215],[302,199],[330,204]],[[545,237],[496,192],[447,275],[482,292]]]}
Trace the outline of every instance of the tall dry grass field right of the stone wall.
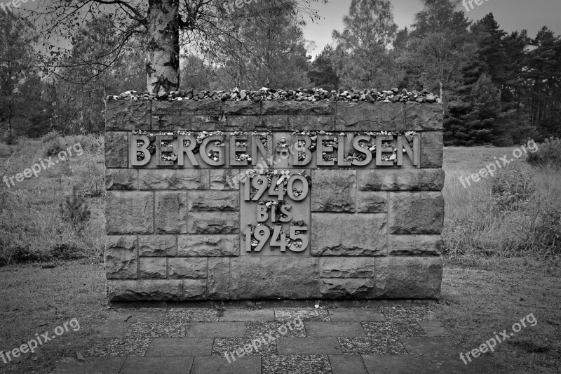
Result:
{"label": "tall dry grass field right of the stone wall", "polygon": [[[534,169],[524,160],[464,188],[460,177],[476,173],[513,148],[445,149],[445,229],[449,259],[487,265],[543,265],[558,272],[561,173]],[[524,183],[523,183],[524,182]],[[515,265],[513,265],[515,264]]]}

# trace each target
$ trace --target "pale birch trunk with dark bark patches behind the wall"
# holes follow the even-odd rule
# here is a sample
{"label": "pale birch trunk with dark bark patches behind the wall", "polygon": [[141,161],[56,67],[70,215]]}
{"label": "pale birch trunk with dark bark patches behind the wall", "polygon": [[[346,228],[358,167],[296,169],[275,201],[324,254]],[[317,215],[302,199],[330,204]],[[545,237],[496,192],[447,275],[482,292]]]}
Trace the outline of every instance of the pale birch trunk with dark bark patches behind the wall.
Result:
{"label": "pale birch trunk with dark bark patches behind the wall", "polygon": [[161,94],[180,87],[179,0],[148,1],[147,89]]}

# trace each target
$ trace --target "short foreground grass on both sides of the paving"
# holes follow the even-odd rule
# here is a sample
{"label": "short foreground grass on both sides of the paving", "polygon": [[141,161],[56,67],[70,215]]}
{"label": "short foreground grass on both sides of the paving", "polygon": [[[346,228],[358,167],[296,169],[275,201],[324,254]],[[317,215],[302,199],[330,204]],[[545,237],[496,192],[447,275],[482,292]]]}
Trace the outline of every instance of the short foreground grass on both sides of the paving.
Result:
{"label": "short foreground grass on both sides of the paving", "polygon": [[[444,326],[466,347],[478,347],[513,323],[533,314],[536,326],[499,344],[495,357],[513,373],[559,373],[561,368],[560,279],[539,268],[504,272],[447,265],[442,299],[435,311]],[[69,330],[25,354],[0,373],[46,373],[63,356],[86,351],[88,337],[110,314],[104,298],[102,265],[67,262],[53,269],[39,266],[0,268],[0,349],[13,349],[77,319]],[[459,354],[459,352],[458,352]]]}

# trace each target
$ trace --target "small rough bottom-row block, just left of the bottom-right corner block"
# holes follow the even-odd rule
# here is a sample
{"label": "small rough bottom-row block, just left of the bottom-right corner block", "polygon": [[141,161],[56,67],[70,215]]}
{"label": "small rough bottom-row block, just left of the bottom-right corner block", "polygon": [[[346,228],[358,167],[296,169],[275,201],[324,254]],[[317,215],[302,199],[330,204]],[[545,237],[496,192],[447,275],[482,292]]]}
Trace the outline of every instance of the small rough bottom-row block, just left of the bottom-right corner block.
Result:
{"label": "small rough bottom-row block, just left of the bottom-right corner block", "polygon": [[320,295],[326,299],[367,299],[374,290],[374,279],[321,279]]}

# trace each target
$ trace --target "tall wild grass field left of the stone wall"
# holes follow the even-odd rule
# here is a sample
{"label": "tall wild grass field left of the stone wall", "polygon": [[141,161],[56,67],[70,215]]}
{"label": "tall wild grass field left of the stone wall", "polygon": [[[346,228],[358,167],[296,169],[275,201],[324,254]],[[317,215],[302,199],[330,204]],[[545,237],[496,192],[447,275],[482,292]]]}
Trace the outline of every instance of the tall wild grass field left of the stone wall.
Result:
{"label": "tall wild grass field left of the stone wall", "polygon": [[[103,143],[102,138],[69,137],[61,142],[80,143],[81,156],[74,156],[8,187],[0,184],[0,266],[27,260],[50,261],[87,257],[99,260],[103,251]],[[21,139],[17,146],[0,147],[0,171],[13,176],[43,157],[43,143]],[[53,159],[55,159],[53,157]],[[91,218],[83,231],[60,215],[60,204],[73,187],[88,197]]]}

